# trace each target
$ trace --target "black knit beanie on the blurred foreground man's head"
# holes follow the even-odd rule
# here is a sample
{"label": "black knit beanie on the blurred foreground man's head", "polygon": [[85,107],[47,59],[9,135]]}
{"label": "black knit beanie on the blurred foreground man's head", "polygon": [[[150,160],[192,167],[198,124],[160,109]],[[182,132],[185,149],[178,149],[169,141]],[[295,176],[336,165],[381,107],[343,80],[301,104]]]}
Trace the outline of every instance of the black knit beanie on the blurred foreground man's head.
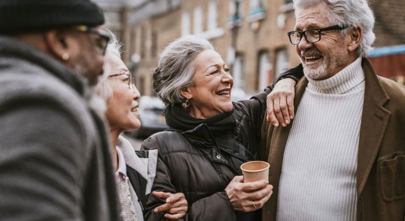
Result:
{"label": "black knit beanie on the blurred foreground man's head", "polygon": [[0,0],[0,33],[104,24],[90,0]]}

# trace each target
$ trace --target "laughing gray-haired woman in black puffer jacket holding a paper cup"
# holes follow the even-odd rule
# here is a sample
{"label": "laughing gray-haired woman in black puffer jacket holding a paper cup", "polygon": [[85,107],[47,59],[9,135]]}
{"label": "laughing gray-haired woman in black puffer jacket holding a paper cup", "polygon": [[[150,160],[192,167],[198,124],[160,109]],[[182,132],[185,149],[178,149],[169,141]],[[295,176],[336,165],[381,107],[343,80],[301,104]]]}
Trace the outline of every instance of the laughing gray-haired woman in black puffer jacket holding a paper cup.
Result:
{"label": "laughing gray-haired woman in black puffer jacket holding a paper cup", "polygon": [[[283,77],[301,77],[300,67]],[[294,87],[295,82],[281,82]],[[270,198],[266,180],[243,182],[240,166],[264,160],[260,130],[266,120],[266,99],[273,86],[250,100],[231,101],[233,78],[222,57],[204,38],[186,36],[160,55],[153,87],[166,105],[170,127],[147,138],[141,149],[158,149],[153,191],[184,193],[185,220],[250,221]],[[274,96],[280,101],[281,96]],[[165,201],[149,195],[145,220],[164,220]]]}

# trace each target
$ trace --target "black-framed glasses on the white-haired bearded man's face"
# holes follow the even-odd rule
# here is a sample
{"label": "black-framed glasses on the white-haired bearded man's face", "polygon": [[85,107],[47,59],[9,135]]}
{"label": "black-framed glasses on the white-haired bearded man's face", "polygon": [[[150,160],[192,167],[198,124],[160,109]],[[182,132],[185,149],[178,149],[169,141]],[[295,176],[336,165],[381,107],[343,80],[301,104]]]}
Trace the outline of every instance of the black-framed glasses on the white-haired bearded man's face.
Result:
{"label": "black-framed glasses on the white-haired bearded man's face", "polygon": [[293,45],[299,44],[301,41],[302,36],[305,37],[305,40],[309,43],[315,43],[321,40],[321,32],[327,30],[343,30],[348,28],[347,25],[339,26],[329,26],[326,28],[310,28],[304,31],[290,31],[288,32],[288,38],[290,38],[290,42]]}

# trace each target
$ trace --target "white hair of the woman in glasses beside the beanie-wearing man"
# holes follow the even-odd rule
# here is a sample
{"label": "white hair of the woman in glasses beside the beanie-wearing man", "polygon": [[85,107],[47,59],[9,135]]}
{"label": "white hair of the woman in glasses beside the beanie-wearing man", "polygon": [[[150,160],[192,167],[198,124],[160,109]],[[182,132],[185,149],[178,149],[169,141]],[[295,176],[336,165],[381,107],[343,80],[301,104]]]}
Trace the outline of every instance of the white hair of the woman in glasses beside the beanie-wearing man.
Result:
{"label": "white hair of the woman in glasses beside the beanie-wearing man", "polygon": [[112,89],[108,84],[108,76],[115,73],[111,73],[111,57],[117,56],[121,58],[120,49],[122,44],[118,41],[117,37],[107,28],[104,28],[110,35],[110,41],[108,42],[106,55],[104,55],[104,66],[103,66],[103,75],[99,78],[99,83],[96,85],[96,93],[104,98],[106,102],[112,97]]}

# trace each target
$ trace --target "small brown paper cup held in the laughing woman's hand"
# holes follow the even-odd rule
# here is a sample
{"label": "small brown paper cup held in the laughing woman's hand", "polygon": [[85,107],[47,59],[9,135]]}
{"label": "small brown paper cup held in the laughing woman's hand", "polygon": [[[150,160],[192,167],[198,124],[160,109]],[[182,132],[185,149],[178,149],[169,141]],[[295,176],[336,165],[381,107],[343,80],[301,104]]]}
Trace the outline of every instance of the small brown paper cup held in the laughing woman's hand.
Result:
{"label": "small brown paper cup held in the laughing woman's hand", "polygon": [[254,182],[258,180],[269,181],[270,164],[264,161],[250,161],[241,165],[243,182]]}

